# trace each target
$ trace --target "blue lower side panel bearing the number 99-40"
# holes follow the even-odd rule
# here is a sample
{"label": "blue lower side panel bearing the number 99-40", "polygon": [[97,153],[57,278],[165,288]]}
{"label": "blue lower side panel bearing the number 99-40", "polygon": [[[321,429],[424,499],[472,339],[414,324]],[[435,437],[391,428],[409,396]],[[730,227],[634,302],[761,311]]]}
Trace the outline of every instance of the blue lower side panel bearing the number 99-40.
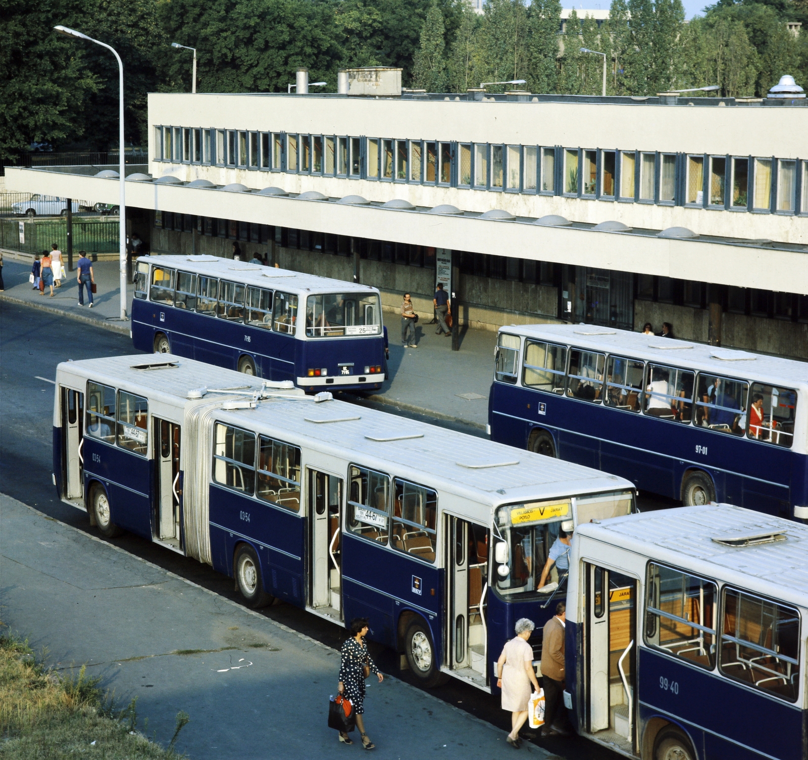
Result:
{"label": "blue lower side panel bearing the number 99-40", "polygon": [[707,760],[802,758],[797,705],[642,647],[638,699],[643,724],[653,716],[674,720],[704,746]]}

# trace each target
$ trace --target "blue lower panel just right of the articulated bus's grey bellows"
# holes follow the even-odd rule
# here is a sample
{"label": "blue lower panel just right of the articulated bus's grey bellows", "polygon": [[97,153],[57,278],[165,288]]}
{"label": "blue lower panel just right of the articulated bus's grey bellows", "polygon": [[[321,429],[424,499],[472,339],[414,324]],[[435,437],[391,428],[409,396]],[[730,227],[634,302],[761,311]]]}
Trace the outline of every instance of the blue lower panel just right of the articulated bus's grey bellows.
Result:
{"label": "blue lower panel just right of the articulated bus's grey bellows", "polygon": [[305,604],[305,521],[286,509],[210,484],[210,547],[213,568],[233,576],[236,544],[249,543],[261,564],[267,593]]}

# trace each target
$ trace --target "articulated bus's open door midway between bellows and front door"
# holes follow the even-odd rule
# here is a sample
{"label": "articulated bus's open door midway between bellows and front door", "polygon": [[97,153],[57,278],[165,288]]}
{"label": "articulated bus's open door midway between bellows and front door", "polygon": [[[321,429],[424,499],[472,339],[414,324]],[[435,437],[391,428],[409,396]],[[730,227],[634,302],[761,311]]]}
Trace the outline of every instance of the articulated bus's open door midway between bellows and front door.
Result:
{"label": "articulated bus's open door midway between bellows and front door", "polygon": [[309,606],[343,619],[340,518],[343,479],[309,469]]}

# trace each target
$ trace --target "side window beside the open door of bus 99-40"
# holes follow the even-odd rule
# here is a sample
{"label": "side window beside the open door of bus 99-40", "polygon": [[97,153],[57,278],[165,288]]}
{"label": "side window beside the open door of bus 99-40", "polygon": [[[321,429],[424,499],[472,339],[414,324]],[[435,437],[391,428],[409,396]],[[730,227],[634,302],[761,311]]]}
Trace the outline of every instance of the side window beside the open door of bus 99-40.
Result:
{"label": "side window beside the open door of bus 99-40", "polygon": [[715,583],[650,562],[646,588],[646,644],[712,670],[718,614]]}

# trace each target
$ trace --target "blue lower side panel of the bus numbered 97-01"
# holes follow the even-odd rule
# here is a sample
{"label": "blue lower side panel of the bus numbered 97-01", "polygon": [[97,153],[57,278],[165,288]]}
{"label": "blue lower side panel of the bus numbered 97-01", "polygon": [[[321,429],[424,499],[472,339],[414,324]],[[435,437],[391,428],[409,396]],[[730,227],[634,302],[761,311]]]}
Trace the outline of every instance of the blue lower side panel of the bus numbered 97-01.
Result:
{"label": "blue lower side panel of the bus numbered 97-01", "polygon": [[679,499],[684,473],[698,469],[718,501],[789,517],[789,505],[808,504],[808,458],[787,449],[501,382],[490,399],[492,441],[524,449],[532,430],[545,429],[560,458],[641,490]]}

